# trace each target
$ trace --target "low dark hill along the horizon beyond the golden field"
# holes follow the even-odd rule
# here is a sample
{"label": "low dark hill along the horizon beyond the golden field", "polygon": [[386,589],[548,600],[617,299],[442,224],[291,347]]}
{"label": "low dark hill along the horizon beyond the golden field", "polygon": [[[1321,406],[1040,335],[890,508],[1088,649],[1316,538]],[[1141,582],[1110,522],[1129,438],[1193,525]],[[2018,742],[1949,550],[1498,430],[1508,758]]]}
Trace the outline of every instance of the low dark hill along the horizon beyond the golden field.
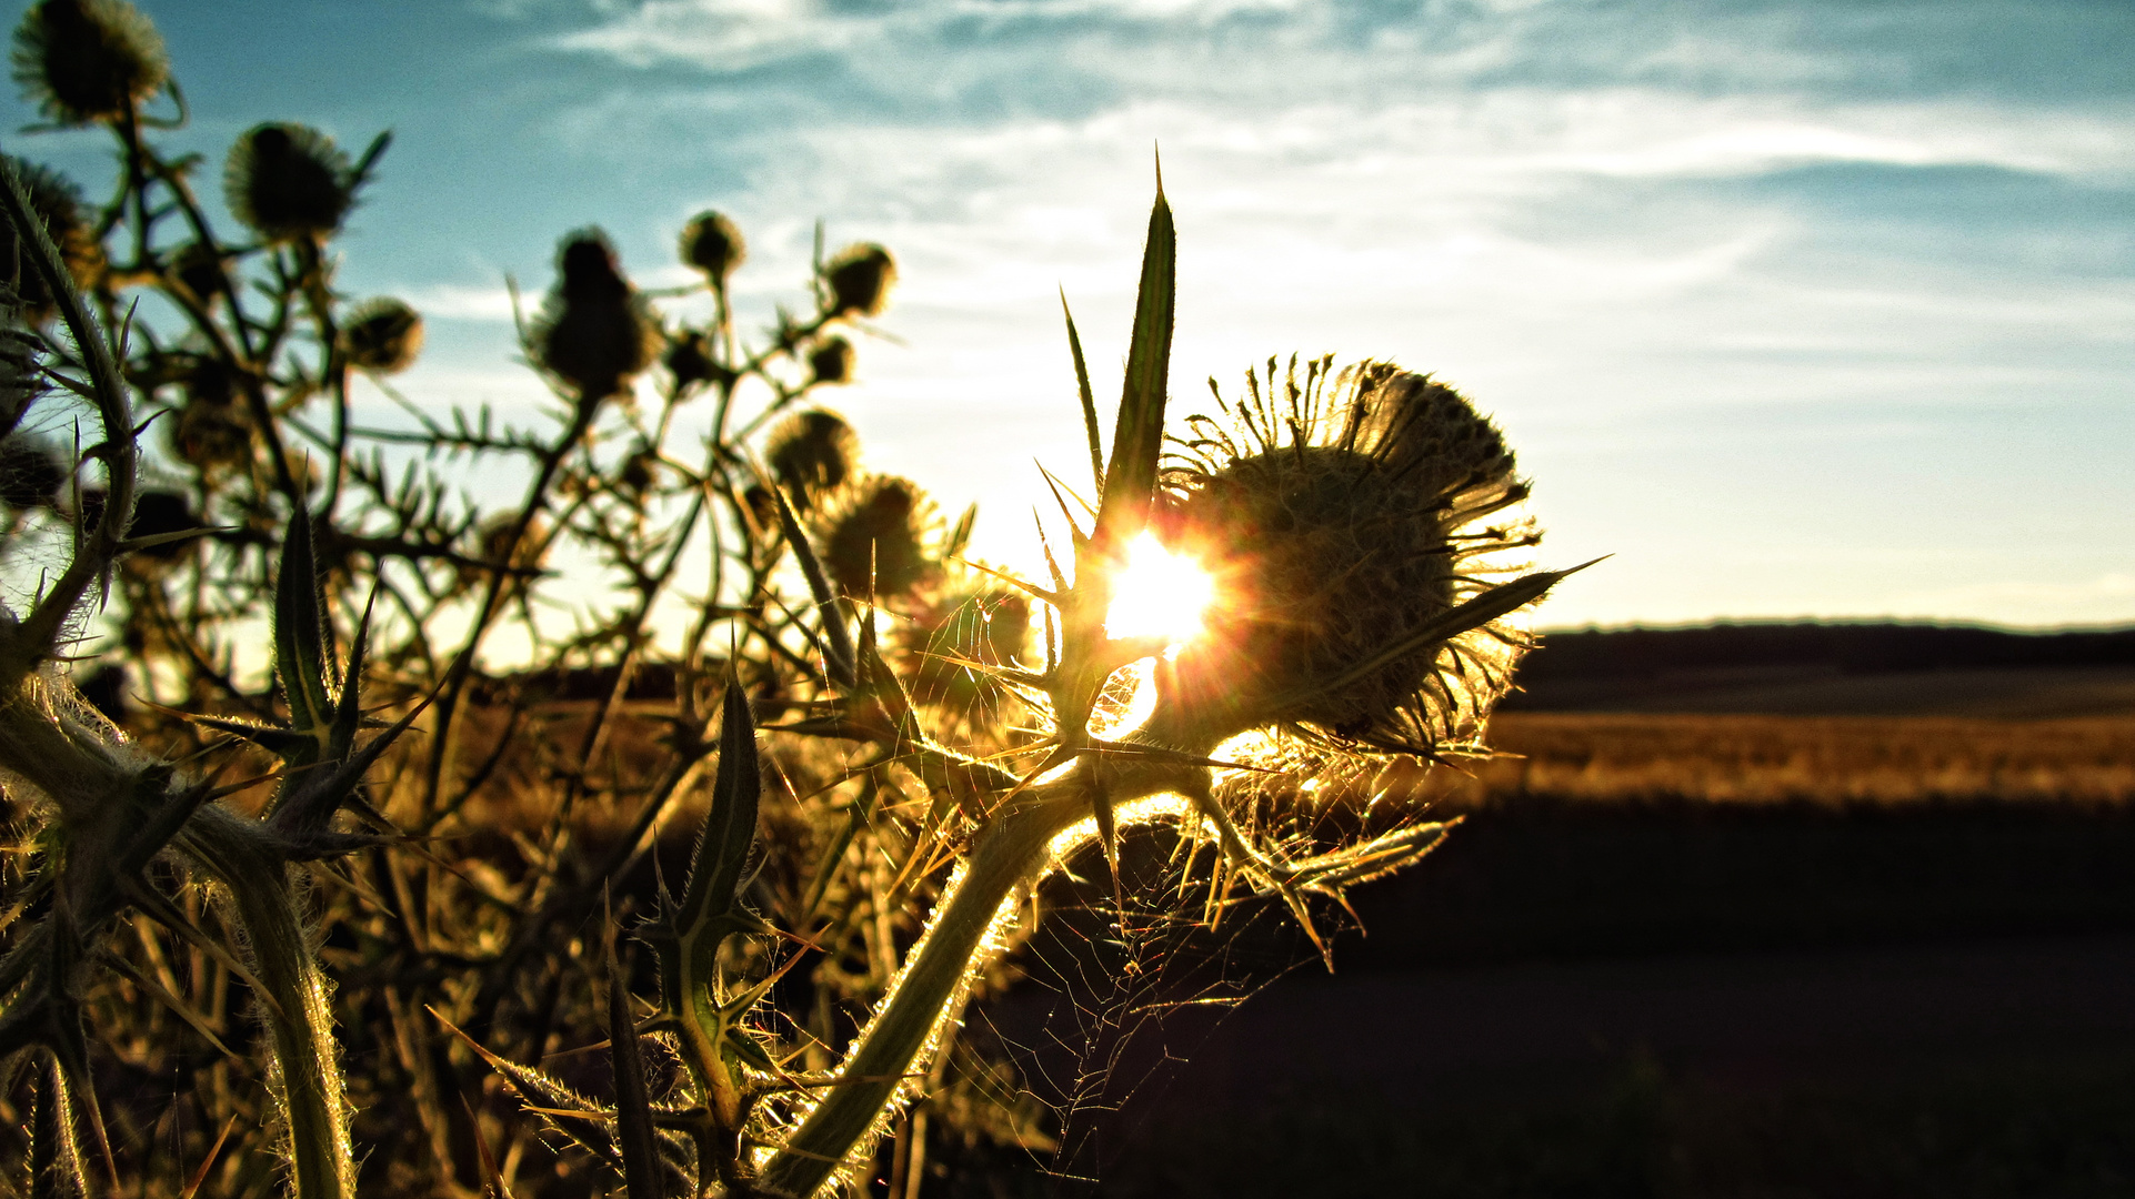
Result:
{"label": "low dark hill along the horizon beyond the golden field", "polygon": [[2135,715],[2135,629],[1717,623],[1544,634],[1505,710]]}

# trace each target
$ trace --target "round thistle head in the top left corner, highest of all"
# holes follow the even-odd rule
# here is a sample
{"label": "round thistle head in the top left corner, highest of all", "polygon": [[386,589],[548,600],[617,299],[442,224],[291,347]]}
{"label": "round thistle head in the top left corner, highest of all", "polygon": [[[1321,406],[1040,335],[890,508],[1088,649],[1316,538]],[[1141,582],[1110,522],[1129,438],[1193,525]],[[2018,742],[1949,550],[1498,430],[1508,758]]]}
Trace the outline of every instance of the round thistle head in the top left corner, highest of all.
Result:
{"label": "round thistle head in the top left corner, highest of all", "polygon": [[126,0],[43,0],[15,26],[15,83],[60,124],[126,117],[171,79],[162,34]]}

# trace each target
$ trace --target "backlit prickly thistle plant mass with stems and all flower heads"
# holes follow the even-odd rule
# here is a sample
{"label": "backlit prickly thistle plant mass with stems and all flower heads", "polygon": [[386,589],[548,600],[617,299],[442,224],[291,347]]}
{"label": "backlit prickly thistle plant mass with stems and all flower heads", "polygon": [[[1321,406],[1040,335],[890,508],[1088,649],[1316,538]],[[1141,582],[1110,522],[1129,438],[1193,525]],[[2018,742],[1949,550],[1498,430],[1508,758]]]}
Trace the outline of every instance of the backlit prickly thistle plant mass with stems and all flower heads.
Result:
{"label": "backlit prickly thistle plant mass with stems and all flower heads", "polygon": [[[1170,420],[1161,188],[1110,444],[1068,322],[1091,501],[1055,480],[1023,580],[824,405],[882,245],[818,235],[752,335],[732,218],[660,292],[564,235],[521,427],[401,395],[421,314],[339,290],[386,134],[252,126],[220,230],[139,11],[43,0],[15,73],[120,162],[88,205],[0,160],[0,1173],[32,1195],[858,1188],[922,1156],[899,1114],[997,1090],[961,1016],[1078,847],[1117,870],[1170,824],[1181,905],[1253,892],[1326,949],[1322,898],[1445,834],[1375,770],[1486,753],[1565,574],[1520,572],[1514,457],[1424,375],[1270,361]],[[1136,619],[1149,561],[1206,610]]]}

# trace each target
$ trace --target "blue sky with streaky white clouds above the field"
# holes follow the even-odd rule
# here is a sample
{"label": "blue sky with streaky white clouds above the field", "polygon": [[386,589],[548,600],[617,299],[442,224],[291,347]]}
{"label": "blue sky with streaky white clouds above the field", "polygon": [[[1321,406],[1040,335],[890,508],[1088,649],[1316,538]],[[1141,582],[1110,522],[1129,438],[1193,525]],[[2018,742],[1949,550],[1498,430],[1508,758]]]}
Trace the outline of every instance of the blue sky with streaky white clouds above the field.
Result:
{"label": "blue sky with streaky white clouds above the field", "polygon": [[[423,403],[532,420],[504,279],[566,230],[673,286],[730,213],[760,329],[820,220],[899,260],[831,397],[867,465],[1029,567],[1035,463],[1087,463],[1059,297],[1114,401],[1161,149],[1174,414],[1292,352],[1458,386],[1537,561],[1614,555],[1544,625],[2135,621],[2126,0],[141,6],[211,164],[393,130],[339,277],[427,316]],[[0,137],[105,190],[92,134]]]}

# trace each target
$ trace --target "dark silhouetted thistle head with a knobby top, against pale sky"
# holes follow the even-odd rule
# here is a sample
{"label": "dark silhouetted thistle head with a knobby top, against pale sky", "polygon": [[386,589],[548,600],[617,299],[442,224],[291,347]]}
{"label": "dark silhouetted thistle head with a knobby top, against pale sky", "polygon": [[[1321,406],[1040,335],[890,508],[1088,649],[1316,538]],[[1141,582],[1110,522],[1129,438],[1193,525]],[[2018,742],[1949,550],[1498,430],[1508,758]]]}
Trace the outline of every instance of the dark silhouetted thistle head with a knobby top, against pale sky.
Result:
{"label": "dark silhouetted thistle head with a knobby top, against pale sky", "polygon": [[555,290],[536,320],[532,350],[587,401],[606,399],[651,365],[660,329],[615,265],[606,233],[566,235],[555,269]]}

